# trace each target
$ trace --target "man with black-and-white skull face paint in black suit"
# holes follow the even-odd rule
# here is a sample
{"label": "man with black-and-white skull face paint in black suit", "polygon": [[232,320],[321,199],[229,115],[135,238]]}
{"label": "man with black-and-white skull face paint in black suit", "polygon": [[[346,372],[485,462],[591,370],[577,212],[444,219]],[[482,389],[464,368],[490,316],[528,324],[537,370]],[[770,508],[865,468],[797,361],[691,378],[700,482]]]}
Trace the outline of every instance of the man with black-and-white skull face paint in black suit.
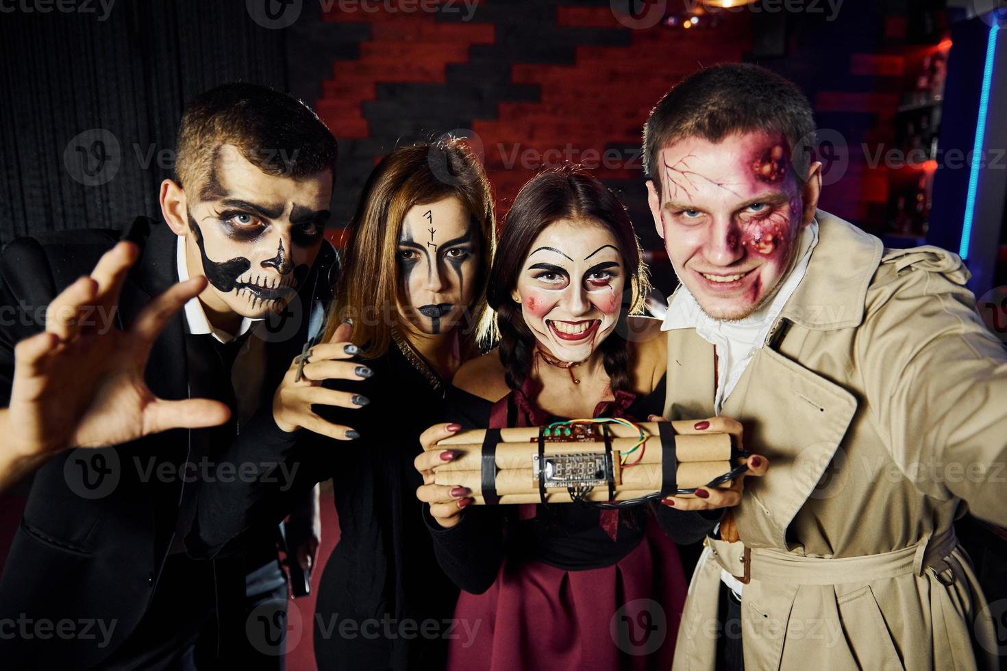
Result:
{"label": "man with black-and-white skull face paint in black suit", "polygon": [[[322,237],[335,158],[335,139],[317,117],[269,89],[226,85],[186,108],[177,177],[161,185],[167,223],[140,217],[127,233],[140,259],[121,279],[116,326],[129,328],[150,296],[204,275],[200,293],[153,341],[145,382],[163,399],[225,403],[231,418],[63,453],[37,472],[0,578],[0,617],[92,622],[105,634],[4,637],[6,665],[282,666],[282,656],[257,655],[245,632],[257,603],[286,601],[277,527],[250,525],[219,558],[191,558],[206,554],[193,530],[195,500],[203,480],[248,477],[214,470],[229,445],[280,432],[271,399],[321,326],[336,268]],[[2,259],[3,300],[45,305],[117,237],[78,230],[12,242]],[[38,330],[4,328],[4,343]],[[5,369],[13,367],[9,349]],[[313,402],[346,403],[325,392],[310,391]],[[309,412],[305,397],[301,414]],[[345,428],[328,431],[345,437]]]}

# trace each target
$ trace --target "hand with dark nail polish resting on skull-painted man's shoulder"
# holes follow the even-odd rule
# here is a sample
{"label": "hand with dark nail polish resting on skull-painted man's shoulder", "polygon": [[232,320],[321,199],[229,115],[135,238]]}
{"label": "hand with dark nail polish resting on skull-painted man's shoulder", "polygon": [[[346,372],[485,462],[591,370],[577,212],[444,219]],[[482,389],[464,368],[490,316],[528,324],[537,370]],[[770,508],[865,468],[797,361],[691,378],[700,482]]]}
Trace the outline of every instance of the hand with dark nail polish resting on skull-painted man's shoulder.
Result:
{"label": "hand with dark nail polish resting on skull-painted man's shoulder", "polygon": [[288,433],[307,429],[337,441],[353,441],[361,437],[349,427],[322,418],[311,407],[358,408],[371,402],[363,394],[322,386],[325,380],[358,381],[374,375],[369,366],[352,360],[359,350],[348,342],[351,335],[352,325],[340,324],[328,342],[308,350],[305,361],[299,356],[294,359],[273,395],[273,420],[280,429]]}

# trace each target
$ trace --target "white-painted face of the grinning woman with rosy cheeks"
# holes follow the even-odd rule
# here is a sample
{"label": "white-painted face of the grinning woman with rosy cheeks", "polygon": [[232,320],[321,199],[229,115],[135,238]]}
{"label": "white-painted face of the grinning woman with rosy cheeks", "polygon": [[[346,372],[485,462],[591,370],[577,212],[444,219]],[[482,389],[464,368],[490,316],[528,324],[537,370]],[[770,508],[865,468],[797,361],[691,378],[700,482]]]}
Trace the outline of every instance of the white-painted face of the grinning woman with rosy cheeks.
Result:
{"label": "white-painted face of the grinning woman with rosy cheeks", "polygon": [[535,238],[512,297],[538,347],[573,364],[615,330],[625,284],[611,231],[591,219],[561,219]]}

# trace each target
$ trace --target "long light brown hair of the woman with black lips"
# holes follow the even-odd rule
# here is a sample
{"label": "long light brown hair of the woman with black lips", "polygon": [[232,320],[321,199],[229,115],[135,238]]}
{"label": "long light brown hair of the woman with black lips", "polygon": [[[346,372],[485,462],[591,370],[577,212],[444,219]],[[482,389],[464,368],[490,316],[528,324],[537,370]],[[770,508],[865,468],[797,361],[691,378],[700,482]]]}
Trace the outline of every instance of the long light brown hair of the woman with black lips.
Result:
{"label": "long light brown hair of the woman with black lips", "polygon": [[[365,356],[379,357],[388,351],[392,328],[399,322],[396,250],[403,220],[415,205],[451,196],[471,215],[482,260],[476,299],[468,306],[461,329],[462,354],[477,354],[479,345],[492,338],[492,318],[486,309],[486,275],[493,258],[495,227],[492,193],[478,159],[462,141],[448,138],[401,147],[371,173],[347,227],[344,264],[328,314],[326,340],[349,318],[352,342]],[[390,318],[376,315],[369,319],[369,310],[375,308],[386,310]]]}

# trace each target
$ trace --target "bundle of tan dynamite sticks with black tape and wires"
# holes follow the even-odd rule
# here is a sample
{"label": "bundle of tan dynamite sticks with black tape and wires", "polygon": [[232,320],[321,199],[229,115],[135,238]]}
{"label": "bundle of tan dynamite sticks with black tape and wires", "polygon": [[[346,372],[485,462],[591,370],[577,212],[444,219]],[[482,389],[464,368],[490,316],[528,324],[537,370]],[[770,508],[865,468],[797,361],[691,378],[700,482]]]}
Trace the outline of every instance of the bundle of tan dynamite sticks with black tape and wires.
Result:
{"label": "bundle of tan dynamite sticks with black tape and wires", "polygon": [[454,459],[434,469],[434,482],[467,487],[478,505],[487,498],[496,504],[626,501],[667,490],[670,479],[679,489],[705,486],[735,466],[729,434],[675,435],[668,424],[659,431],[653,422],[465,431],[437,445]]}

